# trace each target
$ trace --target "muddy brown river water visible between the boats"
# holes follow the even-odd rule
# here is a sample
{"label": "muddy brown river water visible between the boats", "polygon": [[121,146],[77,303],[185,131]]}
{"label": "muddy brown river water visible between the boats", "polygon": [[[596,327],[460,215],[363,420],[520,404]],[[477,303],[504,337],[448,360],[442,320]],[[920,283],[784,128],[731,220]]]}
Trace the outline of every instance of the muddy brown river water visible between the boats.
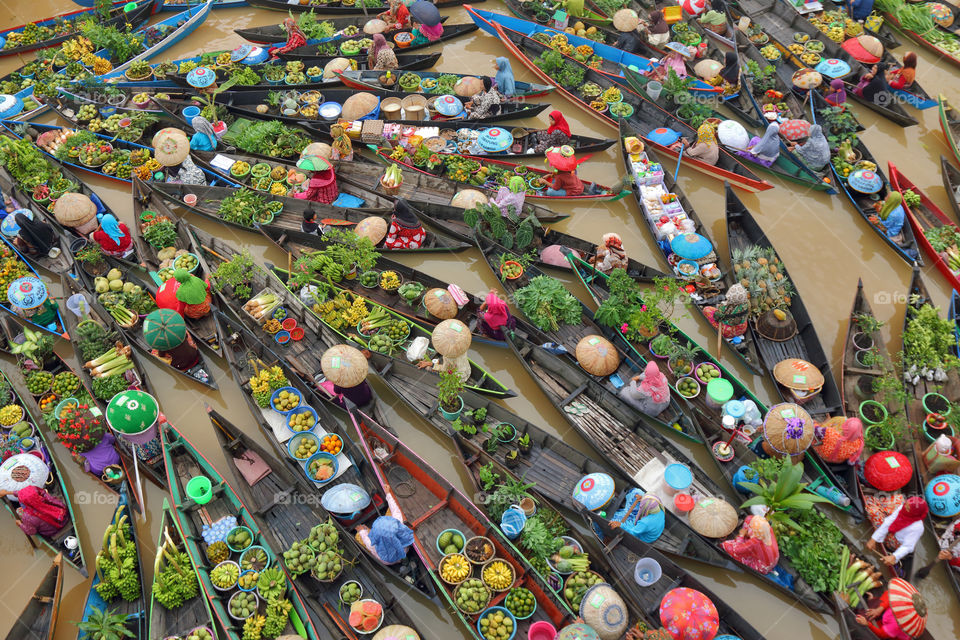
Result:
{"label": "muddy brown river water visible between the boats", "polygon": [[[3,6],[3,24],[0,28],[23,24],[31,20],[73,11],[76,7],[67,0],[5,0]],[[484,9],[506,12],[498,1],[485,2]],[[463,10],[451,12],[448,24],[467,22],[469,19]],[[163,14],[164,16],[169,14]],[[161,59],[176,59],[195,55],[213,49],[230,49],[242,40],[233,33],[234,29],[272,24],[282,20],[284,14],[251,8],[214,10],[206,22],[184,42],[175,45],[161,56]],[[157,18],[153,18],[156,21]],[[904,45],[895,51],[897,58],[903,52],[915,49],[911,41],[901,37]],[[920,62],[918,80],[927,91],[936,95],[946,94],[955,105],[960,106],[960,82],[958,70],[945,62],[938,61],[926,50],[918,50]],[[491,73],[493,58],[507,55],[504,47],[494,38],[476,31],[465,38],[447,44],[443,49],[437,69],[459,73]],[[158,62],[160,60],[154,60]],[[521,65],[511,60],[518,80],[533,80]],[[16,57],[0,58],[0,75],[9,73],[22,62]],[[574,133],[595,137],[615,137],[612,130],[604,130],[595,120],[562,97],[554,97],[554,107],[563,111]],[[949,201],[940,181],[940,155],[950,155],[940,131],[937,110],[918,114],[919,126],[900,128],[875,116],[865,108],[855,106],[856,114],[866,131],[862,140],[878,158],[881,168],[888,160],[898,164],[911,180],[937,203],[953,215]],[[909,109],[909,107],[908,107]],[[50,115],[43,116],[41,122],[53,122]],[[546,127],[546,115],[518,123],[536,128]],[[668,163],[673,170],[672,162]],[[594,155],[579,169],[584,178],[604,184],[615,183],[624,174],[616,146],[603,153]],[[683,166],[679,172],[679,181],[707,226],[708,232],[718,246],[718,253],[726,255],[726,231],[724,225],[724,193],[722,183],[704,177]],[[766,177],[766,176],[764,176]],[[910,266],[899,259],[856,214],[850,202],[842,195],[829,196],[808,193],[789,183],[768,178],[776,188],[758,195],[740,194],[750,208],[767,236],[776,246],[781,258],[790,270],[797,289],[803,295],[806,306],[812,316],[817,334],[823,342],[824,350],[832,356],[834,372],[839,377],[843,340],[847,331],[847,319],[856,292],[857,279],[862,278],[868,298],[874,312],[880,320],[886,322],[883,335],[888,349],[896,352],[901,348],[901,328],[903,326],[904,303],[910,282]],[[121,214],[123,220],[133,224],[130,193],[116,183],[105,180],[88,179],[89,184],[106,202]],[[586,205],[560,205],[558,210],[572,214],[558,223],[561,231],[598,241],[607,231],[618,232],[629,254],[658,268],[659,252],[640,218],[636,202],[625,198],[617,202],[598,202]],[[249,247],[255,255],[274,262],[285,262],[286,256],[274,248],[268,248],[256,234],[238,233],[226,227],[209,223],[196,217],[190,220],[194,224],[216,233],[236,245]],[[483,259],[476,250],[458,254],[432,254],[428,258],[406,256],[404,262],[422,269],[444,280],[456,282],[464,289],[476,293],[496,287],[497,282],[491,275]],[[928,261],[929,262],[929,261]],[[935,300],[946,309],[949,302],[950,287],[935,268],[927,266],[925,280]],[[49,275],[49,274],[47,274]],[[47,278],[49,280],[49,278]],[[575,295],[589,301],[587,291],[569,278]],[[699,318],[690,316],[677,322],[681,328],[703,345],[715,345],[715,334]],[[715,347],[711,349],[715,351]],[[69,355],[72,350],[66,342],[58,345],[58,352]],[[504,402],[515,413],[548,429],[573,446],[588,450],[577,434],[572,433],[563,417],[541,393],[532,379],[519,366],[514,356],[505,349],[479,346],[472,351],[473,357],[484,364],[491,372],[517,391],[517,397]],[[751,385],[757,395],[768,404],[775,403],[776,392],[761,377],[751,376],[738,361],[724,352],[724,364],[735,370],[741,379]],[[223,412],[228,418],[245,427],[255,438],[261,438],[246,404],[240,396],[239,388],[234,384],[229,371],[220,360],[209,359],[213,364],[214,376],[220,386],[219,392],[201,390],[181,377],[174,377],[153,366],[143,359],[151,384],[157,390],[158,399],[167,417],[185,432],[194,443],[201,447],[213,463],[226,472],[223,452],[217,446],[210,423],[203,411],[208,404]],[[4,371],[16,378],[15,364],[5,357],[0,360]],[[434,465],[441,473],[451,478],[461,488],[466,488],[466,478],[455,457],[452,447],[419,416],[413,415],[406,406],[383,385],[375,385],[383,404],[391,418],[391,424],[408,443],[415,443],[416,451]],[[701,467],[715,474],[715,469],[698,445],[693,447],[674,437],[674,442],[694,456]],[[74,506],[80,519],[80,531],[87,557],[92,565],[99,549],[99,538],[112,514],[112,498],[98,491],[98,486],[84,477],[78,468],[70,463],[68,456],[60,446],[54,447],[54,453],[61,461],[67,481],[74,493]],[[722,482],[719,477],[715,480]],[[147,514],[137,523],[141,537],[142,561],[146,579],[150,580],[154,557],[155,541],[159,528],[159,512],[164,493],[157,487],[147,484],[145,487]],[[468,489],[469,493],[469,489]],[[869,531],[863,526],[843,523],[854,536],[865,540]],[[918,548],[916,566],[926,564],[936,553],[932,537],[925,536]],[[0,518],[0,562],[2,574],[7,576],[0,581],[0,632],[8,629],[11,621],[19,615],[33,593],[40,577],[49,566],[50,558],[44,552],[34,553],[10,518]],[[772,639],[810,638],[827,640],[838,637],[836,622],[831,618],[810,615],[778,595],[767,592],[756,580],[743,574],[730,575],[719,570],[705,569],[695,562],[682,563],[689,571],[704,580],[723,598],[737,607],[765,637]],[[930,617],[928,629],[939,640],[960,637],[960,607],[942,574],[937,568],[921,585],[927,600]],[[58,640],[76,637],[76,629],[70,624],[78,620],[83,609],[89,581],[80,579],[79,574],[67,570],[64,581],[64,597],[60,608]],[[452,622],[452,615],[419,598],[409,596],[405,603],[410,607],[417,626],[424,638],[453,639],[468,637]]]}

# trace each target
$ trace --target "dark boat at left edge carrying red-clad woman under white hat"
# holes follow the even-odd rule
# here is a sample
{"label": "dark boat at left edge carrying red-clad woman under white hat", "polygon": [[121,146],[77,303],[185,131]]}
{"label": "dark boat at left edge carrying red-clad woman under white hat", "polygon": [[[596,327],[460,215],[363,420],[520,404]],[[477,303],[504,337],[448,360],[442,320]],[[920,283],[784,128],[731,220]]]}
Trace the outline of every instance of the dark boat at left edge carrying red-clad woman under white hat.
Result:
{"label": "dark boat at left edge carrying red-clad woman under white hat", "polygon": [[[6,329],[5,322],[4,329]],[[78,520],[73,511],[73,499],[71,497],[70,490],[67,489],[67,483],[64,479],[63,472],[60,470],[60,465],[57,463],[57,459],[53,457],[53,448],[50,445],[51,438],[53,438],[53,436],[52,434],[47,435],[40,428],[41,422],[33,417],[30,407],[23,400],[23,396],[21,396],[20,393],[14,388],[13,383],[10,381],[10,378],[7,376],[7,374],[3,373],[2,371],[0,371],[0,384],[3,384],[7,389],[10,390],[9,403],[23,407],[23,419],[33,425],[33,435],[35,438],[37,438],[37,440],[39,440],[37,449],[43,454],[43,460],[50,468],[52,482],[45,486],[46,490],[62,500],[67,506],[67,523],[62,529],[60,529],[60,531],[52,536],[41,536],[39,534],[26,536],[27,541],[30,542],[30,546],[34,549],[37,549],[38,542],[42,543],[45,547],[47,547],[47,549],[52,551],[56,556],[62,557],[68,565],[79,571],[80,575],[86,578],[87,562],[83,557],[83,542],[80,538],[79,529],[77,527]],[[4,500],[3,506],[6,512],[10,514],[11,519],[18,518],[15,511],[15,503],[9,500]],[[71,545],[76,542],[76,545],[73,546],[73,548],[66,546],[68,539],[70,539]],[[52,619],[56,621],[56,616],[53,616]],[[33,640],[34,636],[27,634],[24,636],[24,638]]]}

